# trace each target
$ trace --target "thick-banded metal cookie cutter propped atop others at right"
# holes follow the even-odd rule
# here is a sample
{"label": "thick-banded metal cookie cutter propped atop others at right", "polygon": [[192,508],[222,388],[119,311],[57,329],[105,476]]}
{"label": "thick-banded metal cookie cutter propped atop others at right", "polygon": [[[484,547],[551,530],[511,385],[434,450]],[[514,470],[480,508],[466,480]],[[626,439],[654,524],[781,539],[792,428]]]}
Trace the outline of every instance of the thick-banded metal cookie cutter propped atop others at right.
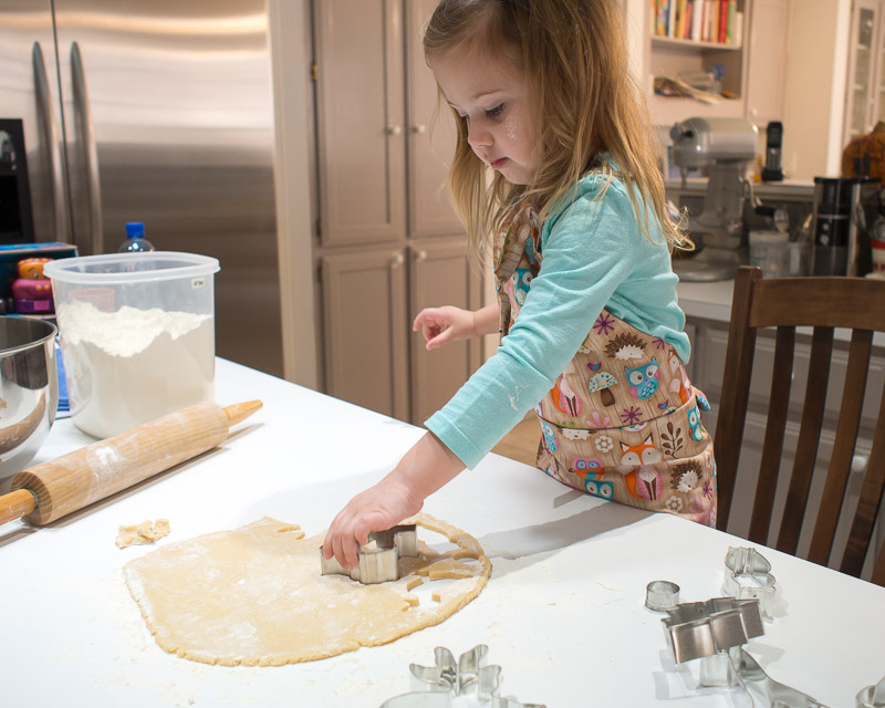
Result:
{"label": "thick-banded metal cookie cutter propped atop others at right", "polygon": [[662,620],[677,664],[712,656],[764,634],[758,600],[714,597],[687,602]]}

